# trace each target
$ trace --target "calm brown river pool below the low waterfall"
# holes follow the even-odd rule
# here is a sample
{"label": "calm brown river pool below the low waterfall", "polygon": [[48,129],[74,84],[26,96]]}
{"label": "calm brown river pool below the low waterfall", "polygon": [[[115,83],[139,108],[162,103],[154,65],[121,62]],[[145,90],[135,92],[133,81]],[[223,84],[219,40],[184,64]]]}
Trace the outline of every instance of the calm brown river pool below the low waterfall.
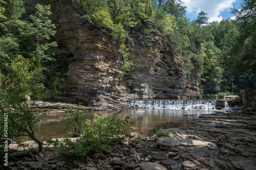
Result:
{"label": "calm brown river pool below the low waterfall", "polygon": [[[96,113],[100,116],[104,116],[106,113],[113,115],[117,111],[94,111],[87,112],[90,115]],[[202,111],[202,110],[170,110],[170,109],[128,109],[123,110],[123,114],[120,114],[119,118],[124,118],[131,115],[128,126],[136,127],[137,129],[132,131],[144,136],[149,136],[150,129],[152,127],[157,128],[178,128],[189,126],[195,126],[194,119],[199,118],[201,114],[211,114],[215,111]],[[36,135],[41,139],[46,138],[59,138],[64,135],[61,133],[61,129],[65,128],[66,123],[60,122],[60,118],[69,113],[56,113],[45,116],[47,123],[40,125],[35,131]],[[184,114],[187,114],[185,116]],[[91,116],[91,119],[94,117]]]}

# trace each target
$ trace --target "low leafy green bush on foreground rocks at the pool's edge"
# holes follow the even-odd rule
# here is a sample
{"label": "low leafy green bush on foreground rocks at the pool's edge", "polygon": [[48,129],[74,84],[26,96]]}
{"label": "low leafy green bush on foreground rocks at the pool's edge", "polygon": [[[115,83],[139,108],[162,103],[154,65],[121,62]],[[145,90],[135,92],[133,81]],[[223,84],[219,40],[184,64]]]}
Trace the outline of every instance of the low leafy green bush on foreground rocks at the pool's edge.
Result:
{"label": "low leafy green bush on foreground rocks at the pool's edge", "polygon": [[89,152],[110,152],[111,142],[122,141],[130,136],[128,130],[135,129],[127,127],[130,116],[118,118],[122,111],[118,111],[112,117],[94,114],[94,120],[91,121],[89,114],[84,113],[86,109],[82,109],[80,104],[68,109],[71,110],[71,114],[63,118],[67,121],[67,128],[64,131],[68,132],[68,135],[79,135],[80,138],[75,141],[66,138],[63,142],[52,142],[60,154],[73,150],[77,156],[84,158]]}

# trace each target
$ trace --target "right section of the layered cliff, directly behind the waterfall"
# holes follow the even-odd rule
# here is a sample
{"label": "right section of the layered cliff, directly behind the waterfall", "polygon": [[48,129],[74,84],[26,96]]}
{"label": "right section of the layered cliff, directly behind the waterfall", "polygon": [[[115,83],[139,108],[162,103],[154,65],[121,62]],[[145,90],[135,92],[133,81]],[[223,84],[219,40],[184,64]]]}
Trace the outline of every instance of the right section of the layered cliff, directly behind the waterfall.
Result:
{"label": "right section of the layered cliff, directly behind the waterfall", "polygon": [[143,32],[155,28],[155,23],[147,20],[140,29],[130,31],[135,44],[128,45],[130,59],[135,63],[130,76],[133,98],[201,98],[198,88],[201,66],[196,65],[186,77],[182,58],[165,49],[162,35],[156,30],[152,36]]}

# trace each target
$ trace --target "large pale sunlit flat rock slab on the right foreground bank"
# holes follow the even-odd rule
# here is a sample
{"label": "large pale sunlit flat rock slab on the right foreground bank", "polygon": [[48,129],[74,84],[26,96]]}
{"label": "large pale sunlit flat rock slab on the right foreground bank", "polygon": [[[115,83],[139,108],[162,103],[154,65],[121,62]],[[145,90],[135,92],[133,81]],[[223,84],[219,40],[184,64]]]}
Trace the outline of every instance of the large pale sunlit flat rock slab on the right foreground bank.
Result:
{"label": "large pale sunlit flat rock slab on the right foreground bank", "polygon": [[197,139],[187,139],[180,136],[162,137],[157,139],[157,144],[164,147],[178,147],[179,145],[191,146],[191,147],[203,147],[207,146],[209,141],[201,141]]}

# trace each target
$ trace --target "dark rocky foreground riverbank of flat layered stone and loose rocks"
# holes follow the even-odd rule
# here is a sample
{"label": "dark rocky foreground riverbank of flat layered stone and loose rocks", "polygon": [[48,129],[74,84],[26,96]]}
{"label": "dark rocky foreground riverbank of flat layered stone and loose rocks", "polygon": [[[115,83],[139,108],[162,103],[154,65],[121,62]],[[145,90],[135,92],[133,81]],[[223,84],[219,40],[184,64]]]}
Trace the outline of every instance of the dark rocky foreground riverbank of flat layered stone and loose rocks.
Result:
{"label": "dark rocky foreground riverbank of flat layered stone and loose rocks", "polygon": [[[168,129],[170,136],[137,138],[115,145],[110,154],[87,159],[59,156],[48,147],[25,157],[14,155],[9,169],[254,169],[256,113],[201,115],[200,126]],[[7,168],[7,167],[5,167]]]}

